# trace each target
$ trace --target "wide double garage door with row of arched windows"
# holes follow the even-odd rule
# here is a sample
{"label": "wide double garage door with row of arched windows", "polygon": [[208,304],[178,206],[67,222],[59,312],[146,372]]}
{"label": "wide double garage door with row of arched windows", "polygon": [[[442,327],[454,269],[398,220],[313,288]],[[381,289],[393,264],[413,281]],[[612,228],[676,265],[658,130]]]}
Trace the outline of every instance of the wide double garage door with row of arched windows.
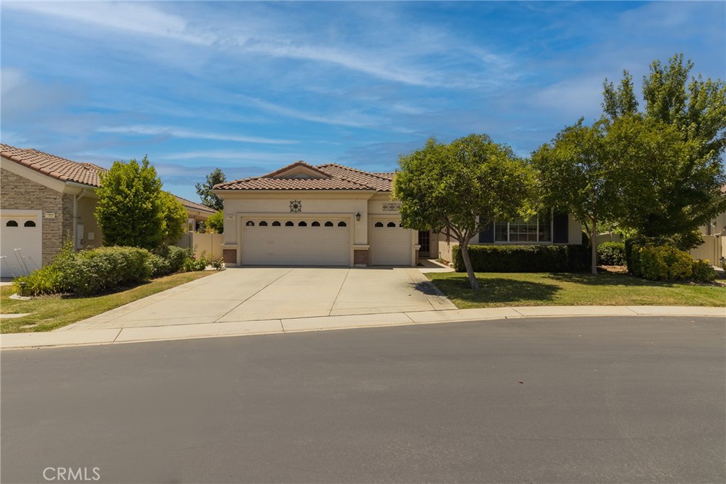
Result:
{"label": "wide double garage door with row of arched windows", "polygon": [[242,218],[243,266],[350,266],[351,227],[342,218]]}

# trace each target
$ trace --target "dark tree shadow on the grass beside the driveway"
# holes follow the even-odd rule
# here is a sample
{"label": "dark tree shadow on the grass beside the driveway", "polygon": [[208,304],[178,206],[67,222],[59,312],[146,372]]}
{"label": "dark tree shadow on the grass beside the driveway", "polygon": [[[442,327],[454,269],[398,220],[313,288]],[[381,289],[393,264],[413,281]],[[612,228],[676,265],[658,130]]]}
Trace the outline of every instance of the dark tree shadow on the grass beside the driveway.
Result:
{"label": "dark tree shadow on the grass beside the driveway", "polygon": [[551,301],[561,289],[557,284],[518,281],[499,277],[478,278],[479,290],[474,291],[466,274],[460,277],[437,279],[434,284],[448,298],[472,303],[516,303],[518,301]]}

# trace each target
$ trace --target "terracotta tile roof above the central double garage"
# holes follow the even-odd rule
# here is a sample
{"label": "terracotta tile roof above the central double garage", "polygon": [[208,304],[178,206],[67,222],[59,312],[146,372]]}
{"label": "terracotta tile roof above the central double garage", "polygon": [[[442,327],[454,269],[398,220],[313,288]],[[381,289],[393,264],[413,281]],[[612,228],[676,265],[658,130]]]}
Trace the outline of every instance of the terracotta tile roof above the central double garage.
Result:
{"label": "terracotta tile roof above the central double garage", "polygon": [[[325,179],[285,178],[285,172],[293,168],[304,166],[316,171]],[[367,171],[348,168],[336,163],[326,163],[317,167],[303,161],[287,165],[280,170],[262,176],[253,176],[246,179],[227,181],[215,185],[219,190],[375,190],[377,192],[390,192],[391,179],[389,173],[368,173]]]}

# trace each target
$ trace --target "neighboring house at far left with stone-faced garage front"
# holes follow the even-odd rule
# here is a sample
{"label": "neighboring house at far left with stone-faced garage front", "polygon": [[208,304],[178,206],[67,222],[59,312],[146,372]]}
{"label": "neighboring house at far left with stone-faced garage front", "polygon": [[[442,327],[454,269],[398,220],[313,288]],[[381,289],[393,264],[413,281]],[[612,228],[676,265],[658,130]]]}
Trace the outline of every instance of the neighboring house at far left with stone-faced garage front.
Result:
{"label": "neighboring house at far left with stone-faced garage front", "polygon": [[[0,144],[0,155],[0,276],[26,274],[52,262],[67,237],[76,250],[103,244],[94,212],[105,168],[7,144]],[[190,221],[214,213],[179,201]]]}

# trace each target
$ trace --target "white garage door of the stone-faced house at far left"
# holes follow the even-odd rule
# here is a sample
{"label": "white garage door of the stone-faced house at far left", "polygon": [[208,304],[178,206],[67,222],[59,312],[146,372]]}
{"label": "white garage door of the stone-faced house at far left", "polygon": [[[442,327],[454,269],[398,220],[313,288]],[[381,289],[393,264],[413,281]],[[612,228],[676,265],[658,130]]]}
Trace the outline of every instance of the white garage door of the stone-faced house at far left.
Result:
{"label": "white garage door of the stone-faced house at far left", "polygon": [[0,210],[0,276],[25,276],[43,265],[41,210]]}

